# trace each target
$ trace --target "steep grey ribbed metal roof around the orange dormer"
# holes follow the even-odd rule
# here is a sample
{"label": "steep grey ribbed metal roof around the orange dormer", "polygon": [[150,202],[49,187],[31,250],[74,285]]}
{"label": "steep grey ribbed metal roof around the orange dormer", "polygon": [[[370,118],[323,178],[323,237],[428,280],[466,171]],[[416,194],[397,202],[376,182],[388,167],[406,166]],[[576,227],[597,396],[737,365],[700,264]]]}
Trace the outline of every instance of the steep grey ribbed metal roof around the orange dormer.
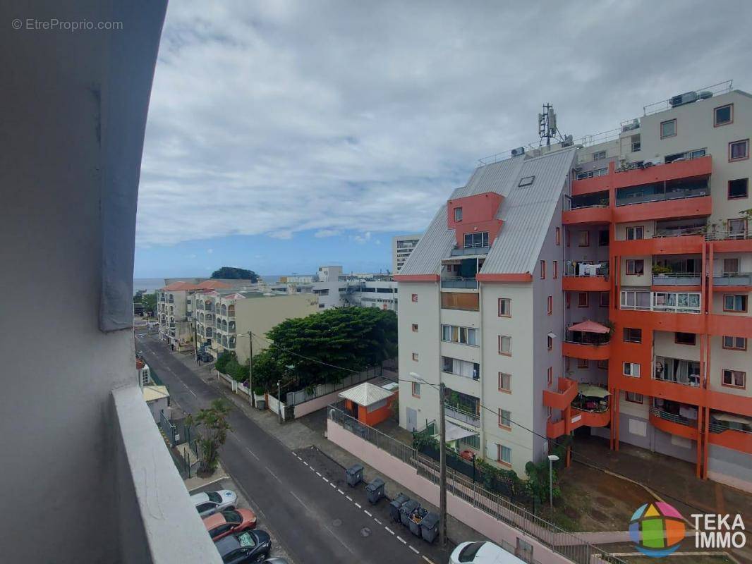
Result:
{"label": "steep grey ribbed metal roof around the orange dormer", "polygon": [[[572,168],[575,152],[572,147],[543,156],[517,156],[484,165],[475,169],[465,186],[453,190],[449,199],[487,192],[505,198],[496,214],[504,224],[493,241],[481,273],[532,272]],[[532,185],[519,186],[520,179],[529,176],[535,176]],[[399,274],[439,274],[441,259],[450,257],[455,243],[454,230],[447,227],[447,205],[444,204]]]}

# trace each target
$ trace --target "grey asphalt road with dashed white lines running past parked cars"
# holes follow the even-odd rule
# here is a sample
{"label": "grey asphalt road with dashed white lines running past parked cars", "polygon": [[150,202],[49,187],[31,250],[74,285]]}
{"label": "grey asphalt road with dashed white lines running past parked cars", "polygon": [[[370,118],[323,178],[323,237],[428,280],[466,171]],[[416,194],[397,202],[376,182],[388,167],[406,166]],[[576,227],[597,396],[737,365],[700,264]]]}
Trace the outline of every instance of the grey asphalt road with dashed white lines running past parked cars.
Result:
{"label": "grey asphalt road with dashed white lines running past parked cars", "polygon": [[[192,371],[166,344],[140,335],[136,335],[137,350],[169,385],[180,408],[196,413],[221,397],[202,380],[200,374],[209,378],[207,371]],[[297,564],[433,562],[411,547],[404,532],[405,538],[399,537],[386,523],[374,520],[368,508],[338,493],[241,411],[233,410],[229,422],[233,432],[220,453],[223,466],[259,508],[259,529],[268,523]]]}

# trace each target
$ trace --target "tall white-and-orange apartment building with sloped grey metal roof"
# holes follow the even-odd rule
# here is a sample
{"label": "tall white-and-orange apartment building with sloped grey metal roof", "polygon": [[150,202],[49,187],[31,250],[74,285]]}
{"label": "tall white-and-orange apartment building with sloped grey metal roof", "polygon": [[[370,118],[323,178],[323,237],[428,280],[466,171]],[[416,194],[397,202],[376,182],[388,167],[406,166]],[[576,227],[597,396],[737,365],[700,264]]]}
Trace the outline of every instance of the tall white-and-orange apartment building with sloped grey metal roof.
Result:
{"label": "tall white-and-orange apartment building with sloped grey metal roof", "polygon": [[464,447],[521,476],[574,433],[752,489],[750,130],[746,92],[690,92],[479,167],[395,277],[400,424],[441,379]]}

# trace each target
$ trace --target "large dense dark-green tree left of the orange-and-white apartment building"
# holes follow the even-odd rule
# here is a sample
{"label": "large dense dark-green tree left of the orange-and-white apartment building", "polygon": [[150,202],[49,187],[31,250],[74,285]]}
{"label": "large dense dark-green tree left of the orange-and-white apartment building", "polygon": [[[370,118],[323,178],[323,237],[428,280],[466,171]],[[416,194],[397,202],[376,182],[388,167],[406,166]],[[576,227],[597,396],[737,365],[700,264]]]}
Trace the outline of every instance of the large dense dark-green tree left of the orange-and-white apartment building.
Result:
{"label": "large dense dark-green tree left of the orange-and-white apartment building", "polygon": [[377,308],[334,308],[285,320],[266,335],[272,344],[253,357],[253,384],[265,390],[293,378],[299,388],[337,383],[397,354],[397,316]]}

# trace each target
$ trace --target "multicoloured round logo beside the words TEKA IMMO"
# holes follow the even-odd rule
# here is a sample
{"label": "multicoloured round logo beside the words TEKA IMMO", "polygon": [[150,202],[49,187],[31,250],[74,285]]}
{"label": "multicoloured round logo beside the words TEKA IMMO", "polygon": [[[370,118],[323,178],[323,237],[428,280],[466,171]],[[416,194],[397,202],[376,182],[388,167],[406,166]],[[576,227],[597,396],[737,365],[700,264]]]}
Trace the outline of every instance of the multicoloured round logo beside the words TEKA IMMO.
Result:
{"label": "multicoloured round logo beside the words TEKA IMMO", "polygon": [[684,519],[666,502],[641,505],[629,521],[629,538],[647,556],[669,556],[684,538]]}

